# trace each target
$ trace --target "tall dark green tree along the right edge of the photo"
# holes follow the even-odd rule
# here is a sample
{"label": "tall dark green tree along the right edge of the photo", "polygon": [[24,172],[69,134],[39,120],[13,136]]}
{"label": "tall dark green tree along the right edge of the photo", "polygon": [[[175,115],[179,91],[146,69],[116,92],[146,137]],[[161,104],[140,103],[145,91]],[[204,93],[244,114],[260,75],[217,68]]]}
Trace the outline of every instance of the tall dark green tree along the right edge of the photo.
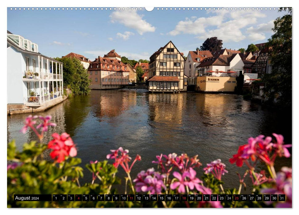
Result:
{"label": "tall dark green tree along the right edge of the photo", "polygon": [[264,93],[269,102],[276,98],[284,107],[292,105],[292,8],[279,8],[287,11],[274,21],[274,34],[268,39],[269,58],[272,72],[265,74]]}

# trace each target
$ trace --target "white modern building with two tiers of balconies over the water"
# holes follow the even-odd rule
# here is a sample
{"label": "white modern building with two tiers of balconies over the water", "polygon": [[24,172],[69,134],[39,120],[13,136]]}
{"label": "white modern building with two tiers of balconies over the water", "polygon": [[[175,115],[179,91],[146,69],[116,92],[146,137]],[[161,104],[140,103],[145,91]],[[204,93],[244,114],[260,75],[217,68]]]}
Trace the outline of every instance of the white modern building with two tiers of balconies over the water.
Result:
{"label": "white modern building with two tiers of balconies over the water", "polygon": [[[7,32],[7,104],[43,106],[62,101],[63,63],[38,52],[38,45]],[[20,106],[18,106],[20,107]]]}

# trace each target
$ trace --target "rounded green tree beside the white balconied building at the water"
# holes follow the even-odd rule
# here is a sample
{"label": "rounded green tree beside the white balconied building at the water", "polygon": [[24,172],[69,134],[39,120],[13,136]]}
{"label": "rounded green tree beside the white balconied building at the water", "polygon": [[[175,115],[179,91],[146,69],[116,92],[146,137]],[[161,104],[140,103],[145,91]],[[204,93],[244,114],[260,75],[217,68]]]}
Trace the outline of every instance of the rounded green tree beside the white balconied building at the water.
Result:
{"label": "rounded green tree beside the white balconied building at the water", "polygon": [[74,95],[89,94],[91,80],[88,78],[87,70],[75,57],[55,58],[63,63],[63,83],[71,89]]}

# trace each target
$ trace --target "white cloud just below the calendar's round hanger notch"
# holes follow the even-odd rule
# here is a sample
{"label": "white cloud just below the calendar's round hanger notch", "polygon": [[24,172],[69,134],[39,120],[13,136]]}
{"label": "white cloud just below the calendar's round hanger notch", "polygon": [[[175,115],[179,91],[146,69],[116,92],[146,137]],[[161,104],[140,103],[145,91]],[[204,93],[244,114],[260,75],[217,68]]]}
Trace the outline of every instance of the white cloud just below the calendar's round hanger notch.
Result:
{"label": "white cloud just below the calendar's round hanger notch", "polygon": [[154,32],[156,27],[143,20],[144,15],[137,14],[137,11],[115,11],[109,16],[112,23],[121,23],[126,27],[135,29],[140,35],[145,32]]}

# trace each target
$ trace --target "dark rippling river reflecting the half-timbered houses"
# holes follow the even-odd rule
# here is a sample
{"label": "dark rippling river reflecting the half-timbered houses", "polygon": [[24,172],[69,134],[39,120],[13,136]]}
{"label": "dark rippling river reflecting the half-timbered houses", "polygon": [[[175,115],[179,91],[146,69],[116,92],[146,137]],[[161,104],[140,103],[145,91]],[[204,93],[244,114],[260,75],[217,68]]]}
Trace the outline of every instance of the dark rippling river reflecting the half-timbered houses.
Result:
{"label": "dark rippling river reflecting the half-timbered houses", "polygon": [[[273,132],[292,142],[292,113],[265,108],[232,94],[152,94],[135,90],[92,90],[88,96],[74,96],[39,115],[52,115],[56,127],[50,127],[44,142],[51,140],[51,133],[67,132],[78,148],[77,157],[82,167],[89,161],[106,159],[110,149],[123,147],[134,159],[131,177],[140,170],[155,167],[156,155],[187,153],[199,155],[206,163],[220,158],[228,174],[222,178],[224,188],[239,187],[236,172],[243,174],[245,167],[230,164],[228,159],[238,147],[247,143],[248,137]],[[27,115],[7,116],[7,141],[22,144],[35,140],[33,132],[19,132]],[[276,169],[292,166],[291,158],[278,158]],[[119,177],[123,170],[119,166]],[[257,168],[263,168],[262,165]],[[203,171],[199,170],[198,175]],[[91,174],[84,170],[80,182],[90,182]],[[124,182],[124,179],[122,179]],[[250,187],[251,179],[245,180]],[[123,192],[124,186],[118,187]],[[249,193],[250,189],[242,190]]]}

